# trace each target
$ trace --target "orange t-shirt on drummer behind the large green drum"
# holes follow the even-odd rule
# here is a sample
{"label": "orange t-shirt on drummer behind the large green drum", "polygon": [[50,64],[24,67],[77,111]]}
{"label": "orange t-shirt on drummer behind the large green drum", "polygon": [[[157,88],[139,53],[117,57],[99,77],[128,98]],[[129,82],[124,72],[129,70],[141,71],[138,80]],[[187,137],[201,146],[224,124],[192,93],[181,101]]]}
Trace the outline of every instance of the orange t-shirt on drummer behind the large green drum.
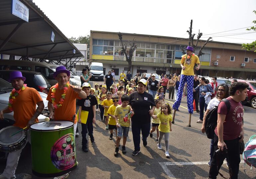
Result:
{"label": "orange t-shirt on drummer behind the large green drum", "polygon": [[[47,100],[52,103],[52,89],[54,86],[52,86],[49,90]],[[60,90],[59,88],[56,89],[55,92],[55,102],[59,104],[61,95],[64,93],[64,90]],[[75,120],[74,123],[76,124],[77,122],[77,116],[75,114],[75,102],[76,99],[81,99],[79,98],[78,93],[74,92],[74,90],[70,87],[70,85],[67,88],[66,91],[66,97],[63,101],[63,104],[60,108],[54,109],[54,120],[68,120],[73,122],[73,116],[75,115]]]}

